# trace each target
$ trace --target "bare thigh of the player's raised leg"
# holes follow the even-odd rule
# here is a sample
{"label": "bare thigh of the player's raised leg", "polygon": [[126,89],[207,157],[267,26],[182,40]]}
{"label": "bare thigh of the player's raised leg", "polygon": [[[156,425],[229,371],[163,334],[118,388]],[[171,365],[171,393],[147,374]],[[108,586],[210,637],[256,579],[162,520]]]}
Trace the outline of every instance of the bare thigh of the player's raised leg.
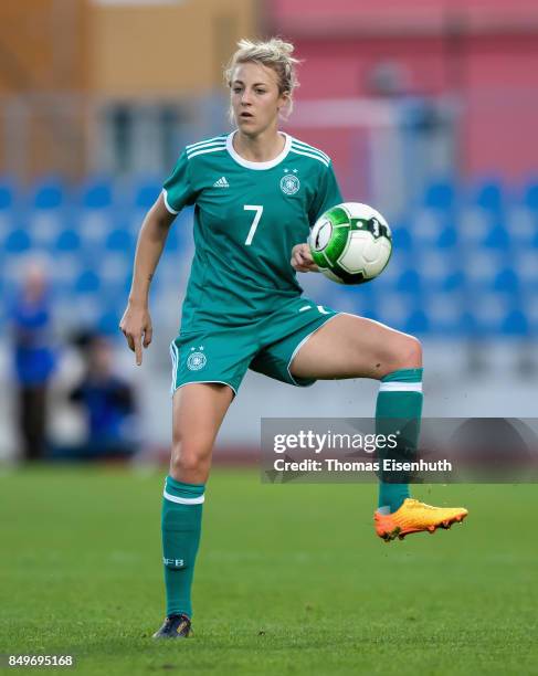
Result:
{"label": "bare thigh of the player's raised leg", "polygon": [[380,379],[399,368],[421,366],[420,344],[411,336],[363,317],[340,314],[297,350],[295,378]]}

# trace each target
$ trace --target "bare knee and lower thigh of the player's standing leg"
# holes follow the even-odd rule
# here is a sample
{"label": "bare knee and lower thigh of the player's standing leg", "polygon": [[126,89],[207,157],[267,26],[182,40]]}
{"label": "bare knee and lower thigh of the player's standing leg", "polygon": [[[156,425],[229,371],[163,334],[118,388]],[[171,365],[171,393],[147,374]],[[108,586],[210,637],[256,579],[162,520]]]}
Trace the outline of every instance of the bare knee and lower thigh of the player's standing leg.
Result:
{"label": "bare knee and lower thigh of the player's standing leg", "polygon": [[233,400],[231,388],[219,383],[189,383],[172,400],[170,474],[189,484],[204,484],[214,440]]}

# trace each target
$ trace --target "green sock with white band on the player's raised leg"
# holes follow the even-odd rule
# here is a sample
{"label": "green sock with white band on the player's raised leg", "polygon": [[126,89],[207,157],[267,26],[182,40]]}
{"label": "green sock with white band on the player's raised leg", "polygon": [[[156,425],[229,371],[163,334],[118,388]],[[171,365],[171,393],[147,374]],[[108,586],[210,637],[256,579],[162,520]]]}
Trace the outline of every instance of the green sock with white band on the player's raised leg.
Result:
{"label": "green sock with white band on the player's raised leg", "polygon": [[[409,455],[419,444],[420,419],[422,414],[422,369],[400,369],[381,379],[376,404],[376,434],[395,434],[399,446]],[[386,455],[387,456],[387,455]],[[378,509],[390,514],[399,509],[409,497],[407,483],[379,483]]]}

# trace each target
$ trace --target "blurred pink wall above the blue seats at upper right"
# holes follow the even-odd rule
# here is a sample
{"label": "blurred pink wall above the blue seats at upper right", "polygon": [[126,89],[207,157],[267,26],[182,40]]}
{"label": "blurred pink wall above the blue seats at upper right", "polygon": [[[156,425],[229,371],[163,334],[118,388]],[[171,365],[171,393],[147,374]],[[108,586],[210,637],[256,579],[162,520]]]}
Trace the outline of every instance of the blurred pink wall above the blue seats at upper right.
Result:
{"label": "blurred pink wall above the blue seats at upper right", "polygon": [[[463,22],[456,41],[443,23],[447,8]],[[375,9],[369,0],[274,0],[268,28],[305,60],[298,102],[368,95],[370,68],[398,61],[411,92],[462,94],[465,172],[538,172],[536,0],[384,0]]]}

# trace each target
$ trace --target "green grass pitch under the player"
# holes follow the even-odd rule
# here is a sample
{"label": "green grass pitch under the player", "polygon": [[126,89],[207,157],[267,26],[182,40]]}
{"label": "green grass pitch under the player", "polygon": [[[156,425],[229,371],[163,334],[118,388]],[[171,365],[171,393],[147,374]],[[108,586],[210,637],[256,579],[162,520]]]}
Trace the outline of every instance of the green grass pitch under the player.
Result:
{"label": "green grass pitch under the player", "polygon": [[76,674],[538,674],[536,486],[418,487],[468,519],[386,545],[375,486],[215,471],[196,633],[156,643],[163,474],[0,476],[0,654],[73,654]]}

